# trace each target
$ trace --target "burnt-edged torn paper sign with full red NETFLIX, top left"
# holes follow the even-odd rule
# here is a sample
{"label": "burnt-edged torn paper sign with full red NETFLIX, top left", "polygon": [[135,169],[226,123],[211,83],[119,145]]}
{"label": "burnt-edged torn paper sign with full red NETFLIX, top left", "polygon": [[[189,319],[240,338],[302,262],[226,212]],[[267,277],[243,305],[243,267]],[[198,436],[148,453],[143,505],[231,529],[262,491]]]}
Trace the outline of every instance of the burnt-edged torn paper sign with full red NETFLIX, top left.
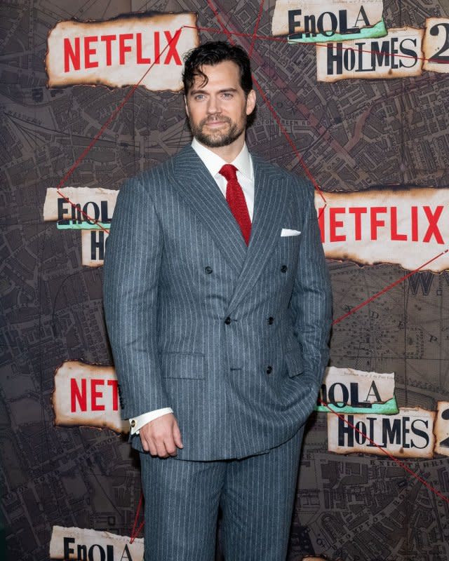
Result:
{"label": "burnt-edged torn paper sign with full red NETFLIX, top left", "polygon": [[105,22],[63,21],[48,34],[48,87],[140,84],[182,88],[182,58],[199,45],[196,13],[133,15]]}

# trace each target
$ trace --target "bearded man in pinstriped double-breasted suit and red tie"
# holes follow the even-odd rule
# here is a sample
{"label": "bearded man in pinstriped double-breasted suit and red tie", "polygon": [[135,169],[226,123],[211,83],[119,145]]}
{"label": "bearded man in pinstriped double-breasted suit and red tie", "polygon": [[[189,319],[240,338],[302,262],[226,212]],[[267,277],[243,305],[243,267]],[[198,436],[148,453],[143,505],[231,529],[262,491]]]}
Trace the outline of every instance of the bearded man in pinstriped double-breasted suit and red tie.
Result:
{"label": "bearded man in pinstriped double-breasted suit and red tie", "polygon": [[248,152],[243,49],[199,46],[183,80],[192,145],[121,189],[105,259],[123,417],[142,452],[145,559],[213,560],[221,506],[227,561],[281,561],[328,361],[314,193]]}

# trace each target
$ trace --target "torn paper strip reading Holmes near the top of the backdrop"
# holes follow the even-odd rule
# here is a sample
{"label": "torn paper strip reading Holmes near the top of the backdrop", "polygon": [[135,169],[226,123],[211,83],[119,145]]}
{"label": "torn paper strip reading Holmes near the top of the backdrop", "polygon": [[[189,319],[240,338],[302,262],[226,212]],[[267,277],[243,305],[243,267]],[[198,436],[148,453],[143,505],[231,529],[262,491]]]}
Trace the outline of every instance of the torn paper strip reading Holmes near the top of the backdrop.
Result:
{"label": "torn paper strip reading Holmes near the top of the backdrop", "polygon": [[355,39],[316,45],[316,77],[343,79],[406,78],[422,74],[424,29],[389,29],[382,39]]}

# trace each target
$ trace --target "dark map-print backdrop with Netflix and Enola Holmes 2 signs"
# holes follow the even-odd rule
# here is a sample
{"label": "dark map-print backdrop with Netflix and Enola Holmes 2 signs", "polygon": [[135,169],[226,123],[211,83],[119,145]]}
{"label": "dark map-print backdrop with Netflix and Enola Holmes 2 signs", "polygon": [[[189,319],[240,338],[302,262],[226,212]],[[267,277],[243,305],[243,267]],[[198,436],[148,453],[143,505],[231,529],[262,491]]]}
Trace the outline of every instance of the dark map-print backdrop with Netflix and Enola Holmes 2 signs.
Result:
{"label": "dark map-print backdrop with Netflix and Enola Holmes 2 signs", "polygon": [[333,285],[288,560],[447,560],[448,2],[37,0],[0,13],[7,558],[142,561],[105,242],[123,181],[190,142],[184,53],[231,37],[261,88],[250,149],[313,177]]}

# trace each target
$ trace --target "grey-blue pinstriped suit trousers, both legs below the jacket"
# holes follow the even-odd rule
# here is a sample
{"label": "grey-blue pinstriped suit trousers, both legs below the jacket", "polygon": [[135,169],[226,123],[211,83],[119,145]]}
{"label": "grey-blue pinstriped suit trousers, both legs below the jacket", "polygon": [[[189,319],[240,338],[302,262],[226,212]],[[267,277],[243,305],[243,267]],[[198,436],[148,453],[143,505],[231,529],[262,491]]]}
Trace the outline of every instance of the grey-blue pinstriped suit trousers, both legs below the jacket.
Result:
{"label": "grey-blue pinstriped suit trousers, both legs below the jacket", "polygon": [[213,561],[219,506],[226,561],[285,561],[302,432],[243,459],[140,454],[145,561]]}

